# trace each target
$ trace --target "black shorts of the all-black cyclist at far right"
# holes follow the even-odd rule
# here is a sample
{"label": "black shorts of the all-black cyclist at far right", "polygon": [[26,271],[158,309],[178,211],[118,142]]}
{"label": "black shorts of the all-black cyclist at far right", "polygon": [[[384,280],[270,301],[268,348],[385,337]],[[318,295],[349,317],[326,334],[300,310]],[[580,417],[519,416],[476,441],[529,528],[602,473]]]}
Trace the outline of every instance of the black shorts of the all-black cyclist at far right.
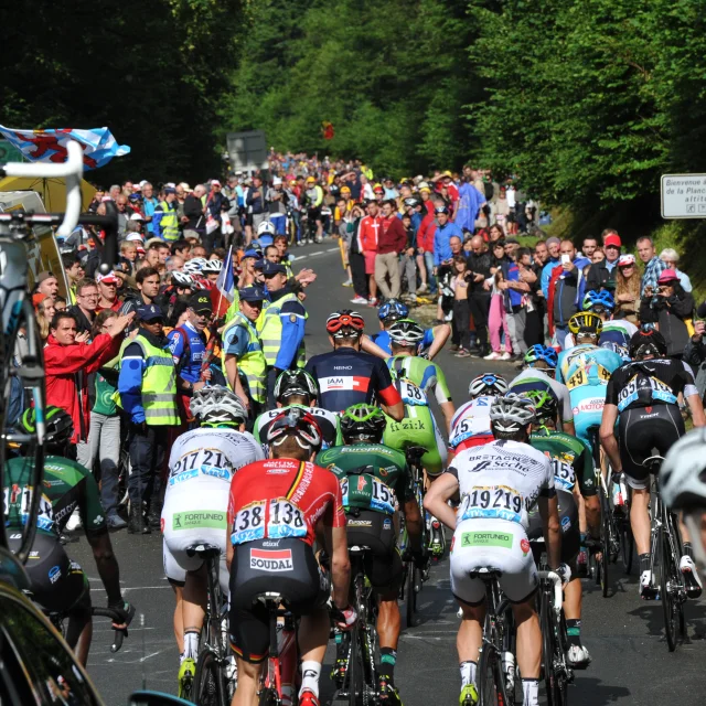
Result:
{"label": "black shorts of the all-black cyclist at far right", "polygon": [[628,484],[643,490],[650,483],[644,460],[654,456],[666,456],[672,445],[686,434],[684,419],[676,405],[654,405],[625,409],[618,420],[620,460]]}

